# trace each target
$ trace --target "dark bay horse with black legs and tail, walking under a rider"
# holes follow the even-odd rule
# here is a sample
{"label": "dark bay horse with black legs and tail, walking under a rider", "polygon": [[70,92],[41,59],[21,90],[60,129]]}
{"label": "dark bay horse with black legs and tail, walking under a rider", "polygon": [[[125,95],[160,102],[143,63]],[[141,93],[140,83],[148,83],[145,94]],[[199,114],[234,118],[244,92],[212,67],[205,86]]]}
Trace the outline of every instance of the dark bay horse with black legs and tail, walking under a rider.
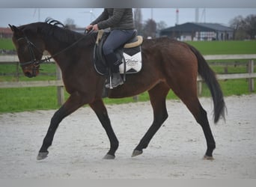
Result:
{"label": "dark bay horse with black legs and tail, walking under a rider", "polygon": [[[65,88],[70,93],[64,105],[53,115],[37,159],[47,157],[48,148],[52,145],[61,120],[85,104],[90,105],[97,114],[108,135],[110,149],[104,158],[114,159],[119,143],[102,99],[106,77],[100,76],[94,70],[93,50],[96,35],[79,34],[49,22],[35,22],[19,27],[10,25],[10,28],[25,76],[37,76],[40,63],[43,62],[43,51],[46,50],[61,68]],[[108,95],[109,98],[122,98],[144,91],[149,93],[153,123],[133,150],[132,156],[142,153],[167,119],[165,99],[171,89],[201,125],[207,141],[204,158],[213,159],[216,143],[207,112],[198,100],[197,76],[199,74],[210,89],[214,104],[214,122],[217,123],[220,118],[225,118],[225,101],[215,73],[197,49],[168,37],[144,40],[141,51],[141,72],[127,75],[125,84],[110,90]]]}

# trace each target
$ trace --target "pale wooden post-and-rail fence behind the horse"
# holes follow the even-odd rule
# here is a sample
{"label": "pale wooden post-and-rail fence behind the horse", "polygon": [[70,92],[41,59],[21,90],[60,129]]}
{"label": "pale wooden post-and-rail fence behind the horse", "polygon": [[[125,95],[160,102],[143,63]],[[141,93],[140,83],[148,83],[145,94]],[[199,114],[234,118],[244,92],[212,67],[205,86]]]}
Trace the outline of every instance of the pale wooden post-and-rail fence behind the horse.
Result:
{"label": "pale wooden post-and-rail fence behind the horse", "polygon": [[[235,59],[246,59],[249,60],[248,73],[234,73],[234,74],[218,74],[217,79],[249,79],[249,91],[254,91],[254,59],[256,54],[253,55],[204,55],[206,60],[235,60]],[[18,64],[18,58],[16,55],[13,56],[0,56],[1,64]],[[0,88],[28,88],[28,87],[47,87],[56,86],[58,91],[58,104],[64,103],[64,84],[61,79],[61,71],[57,67],[56,77],[54,81],[31,81],[31,82],[0,82]],[[201,95],[202,79],[198,76],[198,94]]]}

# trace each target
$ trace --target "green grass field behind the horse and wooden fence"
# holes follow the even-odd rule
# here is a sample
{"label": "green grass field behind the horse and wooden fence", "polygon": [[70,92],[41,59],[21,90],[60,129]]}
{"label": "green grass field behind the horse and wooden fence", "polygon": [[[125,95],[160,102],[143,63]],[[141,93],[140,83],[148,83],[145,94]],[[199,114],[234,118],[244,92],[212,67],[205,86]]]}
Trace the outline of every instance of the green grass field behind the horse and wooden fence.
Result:
{"label": "green grass field behind the horse and wooden fence", "polygon": [[[0,40],[1,43],[1,40]],[[189,42],[195,46],[204,55],[210,54],[255,54],[255,41],[213,41],[213,42]],[[0,46],[1,48],[1,46]],[[6,49],[6,48],[5,48]],[[209,64],[216,73],[224,73],[224,66],[212,66],[214,61]],[[224,61],[229,64],[234,61]],[[246,64],[247,61],[242,61]],[[36,78],[29,79],[22,75],[19,68],[19,81],[39,81],[39,80],[55,80],[55,76],[39,75]],[[40,73],[55,74],[55,64],[42,64]],[[16,81],[15,76],[1,76],[3,73],[16,73],[16,65],[0,65],[0,82]],[[228,66],[228,73],[246,73],[246,66],[237,67]],[[227,81],[219,81],[222,86],[222,91],[225,96],[249,94],[248,82],[246,79],[234,79]],[[255,79],[256,82],[256,79]],[[255,87],[256,88],[256,87]],[[202,96],[210,96],[210,91],[203,84]],[[67,99],[68,94],[65,93]],[[172,91],[168,93],[168,99],[177,99]],[[147,101],[148,93],[141,93],[138,96],[138,101]],[[135,102],[132,97],[124,99],[104,99],[106,104],[119,104],[127,102]],[[1,88],[0,89],[0,113],[16,112],[16,111],[33,111],[37,109],[47,110],[58,108],[57,104],[57,89],[55,87],[46,88]]]}

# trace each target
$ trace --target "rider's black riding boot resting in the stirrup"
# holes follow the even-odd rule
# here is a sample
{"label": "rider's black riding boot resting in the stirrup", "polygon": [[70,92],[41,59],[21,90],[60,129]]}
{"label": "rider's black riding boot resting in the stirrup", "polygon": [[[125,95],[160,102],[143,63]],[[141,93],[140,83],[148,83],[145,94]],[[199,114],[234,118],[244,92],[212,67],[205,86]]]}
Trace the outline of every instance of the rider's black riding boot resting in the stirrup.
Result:
{"label": "rider's black riding boot resting in the stirrup", "polygon": [[107,64],[109,64],[111,73],[109,76],[109,80],[106,83],[106,88],[116,88],[119,85],[123,85],[124,81],[119,73],[119,65],[121,62],[118,60],[114,53],[105,56]]}

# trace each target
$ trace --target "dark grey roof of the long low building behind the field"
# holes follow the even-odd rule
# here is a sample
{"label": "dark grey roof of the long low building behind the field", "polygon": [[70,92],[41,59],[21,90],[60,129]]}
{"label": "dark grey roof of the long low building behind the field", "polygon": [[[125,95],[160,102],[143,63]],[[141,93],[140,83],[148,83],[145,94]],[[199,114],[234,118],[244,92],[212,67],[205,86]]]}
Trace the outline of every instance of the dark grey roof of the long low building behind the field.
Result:
{"label": "dark grey roof of the long low building behind the field", "polygon": [[186,22],[181,25],[175,25],[161,30],[161,33],[169,31],[233,31],[233,28],[229,28],[219,23],[198,23],[198,22]]}

